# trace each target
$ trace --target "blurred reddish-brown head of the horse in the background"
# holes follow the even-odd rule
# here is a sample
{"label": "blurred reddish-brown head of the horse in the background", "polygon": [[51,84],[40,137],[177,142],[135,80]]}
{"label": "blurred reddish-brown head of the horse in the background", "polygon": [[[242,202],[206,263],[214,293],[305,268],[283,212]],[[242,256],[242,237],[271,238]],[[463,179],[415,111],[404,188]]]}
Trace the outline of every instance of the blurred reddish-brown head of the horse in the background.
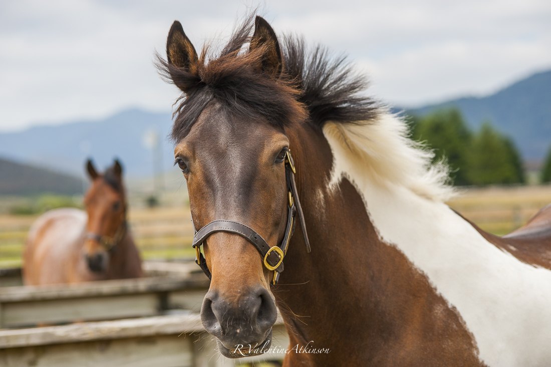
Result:
{"label": "blurred reddish-brown head of the horse in the background", "polygon": [[115,159],[103,174],[96,171],[90,159],[87,164],[91,185],[84,196],[88,214],[85,258],[92,272],[105,272],[110,254],[126,234],[126,197],[122,183],[122,166]]}

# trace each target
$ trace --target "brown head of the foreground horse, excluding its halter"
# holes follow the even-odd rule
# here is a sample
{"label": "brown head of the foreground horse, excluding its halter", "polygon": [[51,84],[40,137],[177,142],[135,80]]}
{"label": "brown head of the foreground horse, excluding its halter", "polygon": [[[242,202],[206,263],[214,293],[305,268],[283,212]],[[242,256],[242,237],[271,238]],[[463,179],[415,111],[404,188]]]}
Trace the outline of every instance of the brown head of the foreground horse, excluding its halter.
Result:
{"label": "brown head of the foreground horse, excluding its halter", "polygon": [[[272,28],[256,18],[230,40],[222,55],[198,57],[179,22],[167,42],[162,71],[184,93],[172,137],[187,180],[193,224],[239,222],[279,244],[288,218],[286,126],[305,119],[296,89],[282,75],[283,60]],[[248,50],[242,45],[250,41]],[[236,233],[216,232],[203,243],[212,273],[201,318],[226,357],[267,347],[277,318],[270,290],[273,272],[257,249]],[[241,350],[237,350],[240,345]]]}

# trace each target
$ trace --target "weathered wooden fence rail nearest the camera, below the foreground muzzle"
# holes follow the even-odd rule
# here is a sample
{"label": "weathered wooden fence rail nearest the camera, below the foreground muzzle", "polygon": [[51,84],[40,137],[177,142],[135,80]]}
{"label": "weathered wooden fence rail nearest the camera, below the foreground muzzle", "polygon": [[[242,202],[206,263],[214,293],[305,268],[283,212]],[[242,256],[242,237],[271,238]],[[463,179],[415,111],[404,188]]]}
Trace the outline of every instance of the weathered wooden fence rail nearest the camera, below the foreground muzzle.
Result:
{"label": "weathered wooden fence rail nearest the camera, below the foreground muzzle", "polygon": [[[287,348],[280,321],[273,336],[274,346]],[[0,331],[3,367],[222,367],[283,359],[275,349],[226,359],[196,313]]]}

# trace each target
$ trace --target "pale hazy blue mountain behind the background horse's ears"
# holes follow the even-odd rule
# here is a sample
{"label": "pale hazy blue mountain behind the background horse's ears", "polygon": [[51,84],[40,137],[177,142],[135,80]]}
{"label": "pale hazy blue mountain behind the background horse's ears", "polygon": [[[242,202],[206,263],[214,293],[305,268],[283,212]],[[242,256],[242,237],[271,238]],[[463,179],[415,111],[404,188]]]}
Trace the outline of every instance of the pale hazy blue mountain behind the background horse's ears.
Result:
{"label": "pale hazy blue mountain behind the background horse's ears", "polygon": [[130,177],[153,175],[154,152],[144,144],[153,130],[160,149],[155,162],[166,171],[174,162],[174,147],[168,141],[172,126],[169,113],[125,110],[106,119],[75,121],[62,125],[35,126],[20,132],[0,133],[0,156],[84,177],[84,162],[92,157],[103,170],[118,157]]}

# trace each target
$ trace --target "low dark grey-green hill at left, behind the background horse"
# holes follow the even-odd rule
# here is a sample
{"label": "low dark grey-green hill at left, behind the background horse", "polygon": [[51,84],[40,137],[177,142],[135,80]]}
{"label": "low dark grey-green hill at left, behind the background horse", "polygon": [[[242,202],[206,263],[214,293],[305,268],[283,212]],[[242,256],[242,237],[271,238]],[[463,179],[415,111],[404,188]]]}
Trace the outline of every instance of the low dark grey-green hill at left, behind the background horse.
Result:
{"label": "low dark grey-green hill at left, behind the background horse", "polygon": [[82,190],[82,180],[74,176],[0,158],[0,195],[74,195]]}

